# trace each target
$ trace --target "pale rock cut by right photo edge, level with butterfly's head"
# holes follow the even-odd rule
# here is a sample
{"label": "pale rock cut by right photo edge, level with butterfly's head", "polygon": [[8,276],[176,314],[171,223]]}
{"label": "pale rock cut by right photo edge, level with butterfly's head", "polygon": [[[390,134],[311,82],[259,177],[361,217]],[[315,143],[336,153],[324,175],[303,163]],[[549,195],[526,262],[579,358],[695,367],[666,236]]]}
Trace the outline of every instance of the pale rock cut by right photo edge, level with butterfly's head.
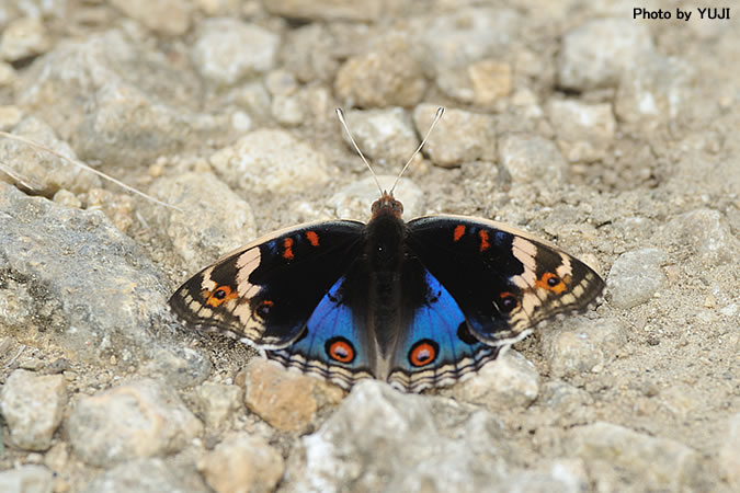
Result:
{"label": "pale rock cut by right photo edge, level with butterfly's head", "polygon": [[659,239],[675,249],[690,249],[702,262],[719,265],[737,262],[740,241],[732,234],[727,219],[711,209],[682,214],[665,225]]}

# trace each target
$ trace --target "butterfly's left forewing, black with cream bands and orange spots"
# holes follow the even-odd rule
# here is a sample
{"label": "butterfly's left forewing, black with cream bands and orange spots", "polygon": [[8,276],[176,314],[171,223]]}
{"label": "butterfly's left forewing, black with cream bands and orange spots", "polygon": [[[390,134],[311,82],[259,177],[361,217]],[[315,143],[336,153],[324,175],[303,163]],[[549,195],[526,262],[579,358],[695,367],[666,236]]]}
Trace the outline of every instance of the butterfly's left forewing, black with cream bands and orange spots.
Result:
{"label": "butterfly's left forewing, black with cream bands and orange spots", "polygon": [[190,325],[286,347],[362,251],[364,227],[315,222],[258,239],[186,280],[170,307]]}

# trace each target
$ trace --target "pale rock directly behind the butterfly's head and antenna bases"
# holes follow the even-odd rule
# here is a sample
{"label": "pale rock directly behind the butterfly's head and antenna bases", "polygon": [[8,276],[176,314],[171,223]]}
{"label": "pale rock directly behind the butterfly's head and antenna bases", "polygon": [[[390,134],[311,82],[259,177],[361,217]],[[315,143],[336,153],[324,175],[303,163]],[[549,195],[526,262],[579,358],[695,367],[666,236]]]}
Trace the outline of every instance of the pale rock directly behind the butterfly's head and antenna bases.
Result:
{"label": "pale rock directly behind the butterfly's head and antenna bases", "polygon": [[[383,190],[390,190],[396,181],[396,175],[380,174],[377,179]],[[406,219],[419,217],[423,213],[424,192],[411,180],[401,179],[394,191],[394,196],[403,204],[403,217]],[[375,180],[373,176],[367,176],[339,191],[331,197],[330,204],[333,206],[337,217],[365,222],[371,216],[373,203],[379,197],[380,192],[378,192]]]}

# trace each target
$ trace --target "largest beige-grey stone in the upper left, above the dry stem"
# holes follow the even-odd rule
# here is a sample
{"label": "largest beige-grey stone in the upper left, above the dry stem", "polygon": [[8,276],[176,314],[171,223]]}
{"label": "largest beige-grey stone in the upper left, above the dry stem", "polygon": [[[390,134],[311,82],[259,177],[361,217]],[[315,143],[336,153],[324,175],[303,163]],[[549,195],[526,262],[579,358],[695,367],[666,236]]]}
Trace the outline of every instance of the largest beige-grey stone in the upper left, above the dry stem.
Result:
{"label": "largest beige-grey stone in the upper left, above the dry stem", "polygon": [[164,54],[109,31],[55,45],[23,72],[19,101],[81,160],[130,168],[185,144],[200,147],[193,133],[216,129],[213,118],[187,110],[198,84]]}

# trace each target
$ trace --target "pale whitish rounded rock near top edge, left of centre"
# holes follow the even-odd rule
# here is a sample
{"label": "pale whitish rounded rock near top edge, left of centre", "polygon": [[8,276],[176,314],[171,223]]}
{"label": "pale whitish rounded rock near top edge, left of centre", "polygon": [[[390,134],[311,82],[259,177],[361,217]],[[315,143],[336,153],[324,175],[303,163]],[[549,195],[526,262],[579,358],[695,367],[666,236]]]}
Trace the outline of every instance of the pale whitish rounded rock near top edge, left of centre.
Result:
{"label": "pale whitish rounded rock near top edge, left of centre", "polygon": [[[244,49],[249,46],[249,49]],[[200,25],[192,58],[197,71],[219,85],[234,85],[275,64],[280,36],[237,19],[206,19]]]}

